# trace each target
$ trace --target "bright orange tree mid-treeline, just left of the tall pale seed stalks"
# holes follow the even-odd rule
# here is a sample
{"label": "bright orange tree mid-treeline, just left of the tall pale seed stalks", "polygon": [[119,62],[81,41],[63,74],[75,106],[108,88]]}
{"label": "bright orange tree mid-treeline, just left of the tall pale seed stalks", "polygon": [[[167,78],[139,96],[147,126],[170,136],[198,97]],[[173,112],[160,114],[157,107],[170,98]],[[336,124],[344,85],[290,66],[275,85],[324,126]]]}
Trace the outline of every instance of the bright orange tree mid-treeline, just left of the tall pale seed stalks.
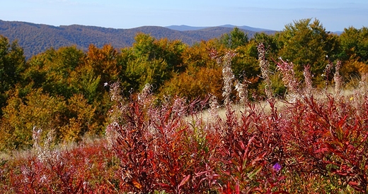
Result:
{"label": "bright orange tree mid-treeline, just left of the tall pale seed stalks", "polygon": [[182,58],[185,71],[174,73],[160,88],[161,96],[205,98],[209,93],[222,99],[222,67],[209,56],[209,49],[223,48],[215,40],[202,41],[185,47]]}

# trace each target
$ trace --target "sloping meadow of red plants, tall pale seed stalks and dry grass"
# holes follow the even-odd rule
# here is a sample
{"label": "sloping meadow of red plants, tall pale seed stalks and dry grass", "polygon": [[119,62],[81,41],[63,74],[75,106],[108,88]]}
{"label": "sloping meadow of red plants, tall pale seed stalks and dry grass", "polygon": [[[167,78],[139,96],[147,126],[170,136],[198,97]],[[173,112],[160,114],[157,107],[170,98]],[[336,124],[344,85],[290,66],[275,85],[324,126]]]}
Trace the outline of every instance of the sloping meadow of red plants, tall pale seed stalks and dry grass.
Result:
{"label": "sloping meadow of red plants, tall pale seed stalks and dry grass", "polygon": [[[297,82],[293,64],[277,61],[287,87],[275,97],[265,47],[258,62],[265,97],[249,100],[231,70],[235,53],[211,52],[222,66],[224,103],[214,95],[156,99],[154,85],[122,95],[103,137],[55,144],[33,128],[33,148],[0,157],[2,193],[367,193],[368,80],[344,93],[340,63],[333,85],[314,88],[309,67]],[[234,99],[231,93],[236,93]]]}

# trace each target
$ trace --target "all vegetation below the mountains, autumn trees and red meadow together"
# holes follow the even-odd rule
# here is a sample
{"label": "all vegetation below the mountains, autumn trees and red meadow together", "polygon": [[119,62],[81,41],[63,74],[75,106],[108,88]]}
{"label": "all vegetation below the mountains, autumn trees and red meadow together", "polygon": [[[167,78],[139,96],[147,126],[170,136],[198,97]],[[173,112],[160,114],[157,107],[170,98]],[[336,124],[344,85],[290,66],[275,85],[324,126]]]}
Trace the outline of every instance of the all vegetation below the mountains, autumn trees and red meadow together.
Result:
{"label": "all vegetation below the mountains, autumn trees and red meadow together", "polygon": [[0,189],[367,193],[367,51],[368,28],[311,19],[27,60],[1,37]]}

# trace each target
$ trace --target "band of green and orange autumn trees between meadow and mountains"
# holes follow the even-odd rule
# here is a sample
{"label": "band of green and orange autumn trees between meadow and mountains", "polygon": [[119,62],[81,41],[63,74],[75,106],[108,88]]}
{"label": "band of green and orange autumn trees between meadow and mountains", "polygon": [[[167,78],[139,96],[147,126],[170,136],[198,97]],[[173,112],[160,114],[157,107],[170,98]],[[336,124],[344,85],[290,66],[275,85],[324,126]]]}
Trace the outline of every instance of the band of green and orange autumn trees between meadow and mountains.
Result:
{"label": "band of green and orange autumn trees between meadow and mountains", "polygon": [[[345,87],[354,87],[367,73],[368,28],[345,28],[341,35],[335,35],[311,19],[294,21],[275,35],[258,33],[249,38],[234,28],[229,34],[190,46],[139,33],[132,47],[91,44],[88,51],[50,48],[30,59],[25,59],[17,42],[1,36],[0,150],[31,147],[32,132],[38,128],[45,133],[53,129],[59,142],[103,135],[111,106],[109,87],[115,82],[120,82],[125,96],[150,83],[157,103],[176,95],[188,101],[209,94],[222,99],[222,66],[211,58],[213,51],[221,56],[235,50],[231,68],[236,80],[248,85],[249,99],[262,99],[260,42],[268,50],[271,69],[281,56],[294,63],[301,81],[304,66],[310,66],[314,87],[333,82],[332,75],[325,72],[329,61],[342,62],[340,74]],[[270,79],[275,95],[283,97],[287,91],[277,71]]]}

